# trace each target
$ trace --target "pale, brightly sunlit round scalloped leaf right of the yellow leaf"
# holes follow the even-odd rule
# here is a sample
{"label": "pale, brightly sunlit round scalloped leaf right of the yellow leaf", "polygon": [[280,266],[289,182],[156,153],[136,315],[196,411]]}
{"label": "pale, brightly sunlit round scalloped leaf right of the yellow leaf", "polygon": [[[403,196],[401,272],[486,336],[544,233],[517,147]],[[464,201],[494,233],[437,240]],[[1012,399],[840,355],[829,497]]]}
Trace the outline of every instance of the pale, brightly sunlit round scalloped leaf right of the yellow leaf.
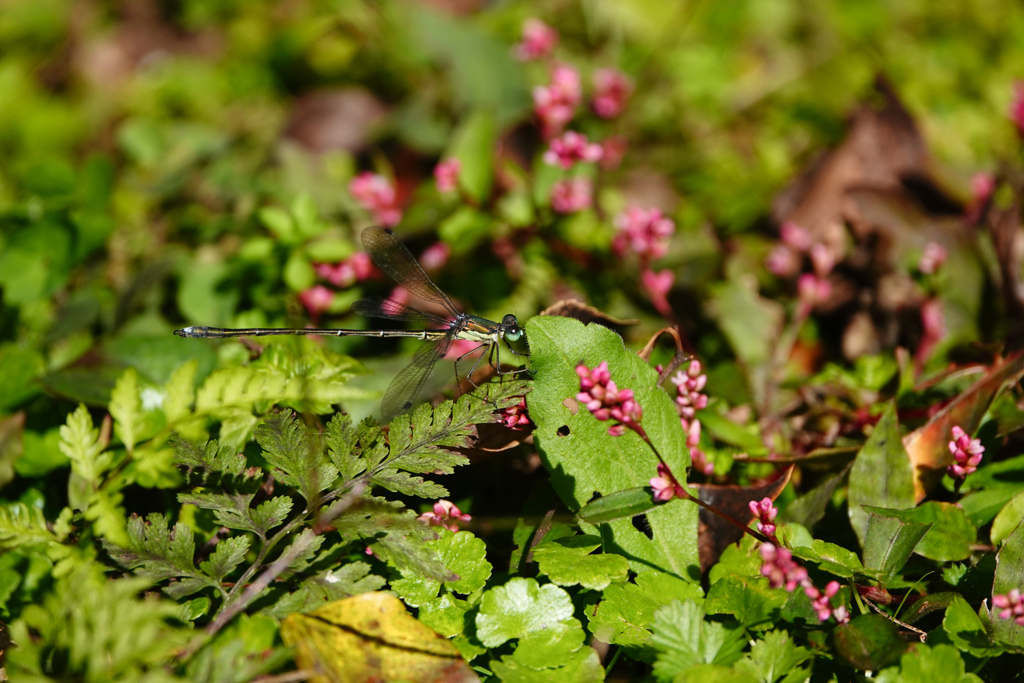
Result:
{"label": "pale, brightly sunlit round scalloped leaf right of the yellow leaf", "polygon": [[568,593],[552,584],[541,586],[532,579],[511,579],[483,594],[476,614],[476,637],[487,647],[498,647],[513,638],[557,628],[572,617]]}

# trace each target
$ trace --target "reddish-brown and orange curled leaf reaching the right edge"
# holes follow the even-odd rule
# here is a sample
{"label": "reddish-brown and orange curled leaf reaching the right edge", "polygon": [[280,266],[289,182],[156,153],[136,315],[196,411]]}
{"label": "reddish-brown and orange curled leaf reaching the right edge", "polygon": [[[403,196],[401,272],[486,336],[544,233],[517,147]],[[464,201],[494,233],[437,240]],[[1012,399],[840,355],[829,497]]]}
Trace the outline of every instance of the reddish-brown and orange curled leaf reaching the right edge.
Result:
{"label": "reddish-brown and orange curled leaf reaching the right edge", "polygon": [[919,503],[925,499],[952,463],[947,443],[950,431],[958,425],[973,434],[995,396],[1010,383],[1024,377],[1024,351],[997,360],[984,377],[956,396],[926,425],[903,437],[903,446],[913,467],[913,489]]}

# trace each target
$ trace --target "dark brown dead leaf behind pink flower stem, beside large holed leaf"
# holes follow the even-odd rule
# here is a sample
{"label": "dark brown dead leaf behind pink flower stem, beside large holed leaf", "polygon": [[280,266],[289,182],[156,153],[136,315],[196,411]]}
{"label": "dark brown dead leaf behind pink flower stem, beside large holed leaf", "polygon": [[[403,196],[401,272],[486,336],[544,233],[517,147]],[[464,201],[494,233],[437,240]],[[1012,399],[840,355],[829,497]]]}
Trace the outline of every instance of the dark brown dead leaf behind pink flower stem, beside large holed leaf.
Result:
{"label": "dark brown dead leaf behind pink flower stem, beside large holed leaf", "polygon": [[[763,498],[770,498],[773,501],[778,498],[778,495],[790,483],[793,468],[794,466],[791,465],[778,470],[770,479],[757,486],[698,484],[689,488],[690,490],[695,488],[697,498],[708,505],[721,510],[741,524],[750,524],[754,521],[754,515],[748,504]],[[739,541],[742,535],[742,531],[729,522],[700,508],[697,526],[700,570],[707,571],[711,565],[718,561],[722,552]]]}

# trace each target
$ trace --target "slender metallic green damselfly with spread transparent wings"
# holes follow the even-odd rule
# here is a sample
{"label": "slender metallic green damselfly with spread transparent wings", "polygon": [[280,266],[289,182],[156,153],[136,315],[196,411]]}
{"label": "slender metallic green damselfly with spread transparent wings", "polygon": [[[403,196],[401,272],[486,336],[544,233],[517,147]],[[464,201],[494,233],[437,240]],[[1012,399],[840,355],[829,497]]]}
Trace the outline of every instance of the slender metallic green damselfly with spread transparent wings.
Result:
{"label": "slender metallic green damselfly with spread transparent wings", "polygon": [[[437,330],[326,330],[315,328],[203,328],[190,327],[175,330],[174,334],[189,339],[218,339],[223,337],[264,337],[268,335],[322,335],[331,337],[413,337],[423,341],[433,342],[417,351],[413,362],[398,373],[384,393],[381,401],[381,415],[385,420],[412,408],[416,396],[423,388],[427,376],[437,359],[444,356],[452,344],[459,339],[479,342],[479,345],[456,358],[456,374],[459,361],[466,356],[486,348],[486,356],[499,374],[507,375],[523,372],[524,368],[511,371],[501,371],[502,343],[513,355],[529,355],[525,333],[519,327],[519,321],[512,313],[505,315],[501,323],[495,323],[482,317],[460,311],[433,281],[423,270],[409,249],[389,228],[368,227],[362,231],[362,246],[377,267],[383,270],[391,280],[398,283],[410,294],[443,308],[450,318],[433,313],[417,310],[394,299],[359,299],[352,305],[352,310],[370,317],[383,317],[391,321],[415,321],[437,327]],[[522,342],[523,352],[518,352],[512,343]],[[473,373],[480,365],[483,354],[473,364],[466,378],[472,384]],[[475,386],[475,384],[474,384]]]}

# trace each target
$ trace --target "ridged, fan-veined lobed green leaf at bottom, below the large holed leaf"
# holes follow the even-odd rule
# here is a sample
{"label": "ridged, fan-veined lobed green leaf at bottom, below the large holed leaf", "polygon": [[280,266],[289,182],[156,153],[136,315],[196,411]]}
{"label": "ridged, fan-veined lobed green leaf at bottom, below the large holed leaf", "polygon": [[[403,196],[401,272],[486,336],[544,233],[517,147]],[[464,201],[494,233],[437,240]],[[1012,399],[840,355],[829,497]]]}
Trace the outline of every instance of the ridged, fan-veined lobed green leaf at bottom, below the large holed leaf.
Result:
{"label": "ridged, fan-veined lobed green leaf at bottom, below the large holed leaf", "polygon": [[671,681],[697,664],[732,665],[745,645],[741,628],[707,622],[693,601],[673,602],[654,613],[651,642],[657,649],[654,678]]}

